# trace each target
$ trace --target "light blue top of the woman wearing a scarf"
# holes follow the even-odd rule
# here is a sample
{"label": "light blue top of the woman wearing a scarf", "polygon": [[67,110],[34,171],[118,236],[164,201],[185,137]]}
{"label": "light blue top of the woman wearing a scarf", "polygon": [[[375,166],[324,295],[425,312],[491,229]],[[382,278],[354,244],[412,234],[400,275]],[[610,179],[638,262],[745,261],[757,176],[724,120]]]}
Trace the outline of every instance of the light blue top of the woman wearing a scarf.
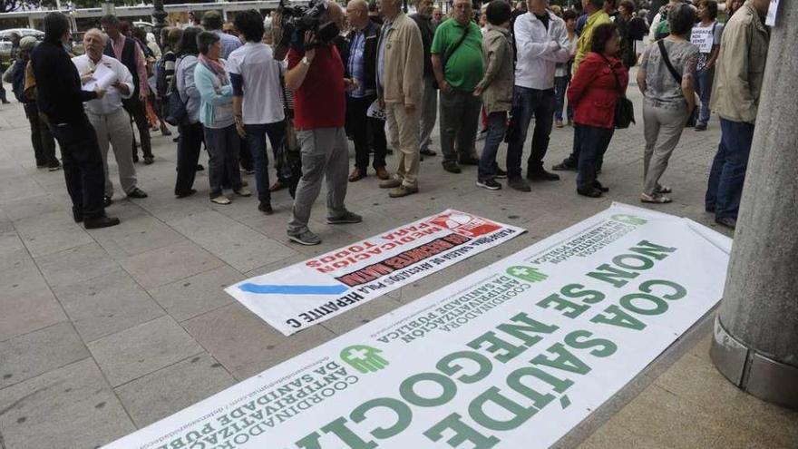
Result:
{"label": "light blue top of the woman wearing a scarf", "polygon": [[[224,62],[222,62],[224,63]],[[194,84],[199,91],[199,122],[206,128],[227,128],[233,117],[233,85],[219,82],[216,73],[202,63],[194,68]]]}

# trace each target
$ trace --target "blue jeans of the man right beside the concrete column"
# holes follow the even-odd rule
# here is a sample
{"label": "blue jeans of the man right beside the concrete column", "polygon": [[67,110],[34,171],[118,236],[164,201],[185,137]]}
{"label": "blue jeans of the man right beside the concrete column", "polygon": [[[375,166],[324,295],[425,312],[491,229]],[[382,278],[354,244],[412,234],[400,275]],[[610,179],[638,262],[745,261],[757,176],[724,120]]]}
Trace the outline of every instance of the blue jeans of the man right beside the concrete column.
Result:
{"label": "blue jeans of the man right beside the concrete column", "polygon": [[754,140],[754,125],[721,118],[720,130],[720,144],[709,171],[705,206],[706,210],[715,210],[715,218],[736,219]]}

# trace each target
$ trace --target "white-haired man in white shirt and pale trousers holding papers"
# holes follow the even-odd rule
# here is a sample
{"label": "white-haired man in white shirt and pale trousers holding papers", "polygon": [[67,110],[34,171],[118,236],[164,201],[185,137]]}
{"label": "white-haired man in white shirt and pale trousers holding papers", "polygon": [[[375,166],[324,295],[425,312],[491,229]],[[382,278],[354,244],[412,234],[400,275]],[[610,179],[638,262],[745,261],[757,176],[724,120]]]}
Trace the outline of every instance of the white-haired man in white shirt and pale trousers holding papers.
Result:
{"label": "white-haired man in white shirt and pale trousers holding papers", "polygon": [[105,168],[105,206],[111,204],[113,197],[113,184],[108,176],[108,143],[113,146],[113,156],[119,167],[119,182],[122,190],[129,198],[147,198],[147,194],[136,186],[136,169],[133,166],[131,141],[131,117],[122,107],[122,99],[131,97],[134,91],[133,76],[124,64],[118,60],[102,54],[105,48],[105,35],[97,28],[92,28],[83,34],[83,46],[86,54],[74,57],[72,62],[81,75],[81,82],[85,86],[95,83],[93,74],[101,64],[111,69],[116,81],[108,87],[102,99],[85,102],[86,115],[92,123],[94,132],[97,133],[97,143],[102,152],[102,162]]}

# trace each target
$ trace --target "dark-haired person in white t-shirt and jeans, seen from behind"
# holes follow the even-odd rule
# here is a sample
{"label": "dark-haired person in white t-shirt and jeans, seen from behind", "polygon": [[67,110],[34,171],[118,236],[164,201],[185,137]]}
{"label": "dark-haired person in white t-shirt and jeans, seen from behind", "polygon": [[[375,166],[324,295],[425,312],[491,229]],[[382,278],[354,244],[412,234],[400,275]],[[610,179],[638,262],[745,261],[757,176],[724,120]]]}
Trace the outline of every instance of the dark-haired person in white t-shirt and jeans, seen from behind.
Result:
{"label": "dark-haired person in white t-shirt and jeans, seen from behind", "polygon": [[230,54],[227,62],[230,82],[233,84],[233,114],[238,135],[247,140],[255,165],[255,183],[258,187],[258,210],[272,213],[268,185],[268,155],[266,138],[275,156],[277,181],[287,185],[290,168],[280,163],[285,151],[286,114],[283,109],[283,89],[280,74],[285,63],[275,60],[271,47],[262,44],[263,17],[258,11],[241,11],[236,15],[236,28],[246,40],[243,46]]}

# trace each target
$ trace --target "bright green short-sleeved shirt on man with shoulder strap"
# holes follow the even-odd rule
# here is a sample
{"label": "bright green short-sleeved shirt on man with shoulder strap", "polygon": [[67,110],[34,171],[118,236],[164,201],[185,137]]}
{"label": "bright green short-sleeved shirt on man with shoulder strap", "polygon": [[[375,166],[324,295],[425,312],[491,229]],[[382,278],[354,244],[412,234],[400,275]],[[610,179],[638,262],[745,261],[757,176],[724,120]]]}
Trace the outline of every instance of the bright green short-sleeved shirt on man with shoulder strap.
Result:
{"label": "bright green short-sleeved shirt on man with shoulder strap", "polygon": [[[468,35],[453,54],[449,54],[444,73],[446,83],[461,91],[473,91],[477,83],[482,81],[482,33],[480,27],[469,22]],[[465,26],[454,19],[439,24],[433,38],[432,54],[442,58],[448,49],[460,42]]]}

